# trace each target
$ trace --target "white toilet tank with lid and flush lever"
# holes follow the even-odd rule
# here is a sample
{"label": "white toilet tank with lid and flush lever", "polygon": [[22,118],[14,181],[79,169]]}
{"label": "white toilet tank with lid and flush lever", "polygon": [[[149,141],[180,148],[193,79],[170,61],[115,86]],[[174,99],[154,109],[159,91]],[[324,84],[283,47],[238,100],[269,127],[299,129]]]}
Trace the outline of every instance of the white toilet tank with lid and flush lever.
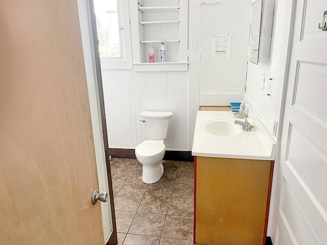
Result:
{"label": "white toilet tank with lid and flush lever", "polygon": [[166,139],[169,121],[173,113],[169,111],[143,111],[139,113],[142,136],[147,139]]}

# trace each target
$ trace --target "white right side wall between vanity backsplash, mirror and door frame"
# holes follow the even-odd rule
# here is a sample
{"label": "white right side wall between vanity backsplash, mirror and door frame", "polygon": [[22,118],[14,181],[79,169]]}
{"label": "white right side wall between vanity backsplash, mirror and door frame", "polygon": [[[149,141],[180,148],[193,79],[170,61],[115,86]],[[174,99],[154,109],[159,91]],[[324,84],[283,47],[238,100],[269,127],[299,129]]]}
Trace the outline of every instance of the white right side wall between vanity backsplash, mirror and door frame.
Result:
{"label": "white right side wall between vanity backsplash, mirror and door frame", "polygon": [[[258,65],[249,62],[246,79],[245,102],[251,104],[252,109],[271,135],[274,120],[278,121],[278,126],[281,125],[282,96],[286,77],[289,38],[289,27],[286,30],[284,23],[290,17],[285,15],[285,8],[285,0],[275,0],[270,58],[260,61]],[[288,14],[290,15],[290,13]],[[276,85],[273,97],[268,96],[267,92],[261,89],[263,75],[275,79]]]}

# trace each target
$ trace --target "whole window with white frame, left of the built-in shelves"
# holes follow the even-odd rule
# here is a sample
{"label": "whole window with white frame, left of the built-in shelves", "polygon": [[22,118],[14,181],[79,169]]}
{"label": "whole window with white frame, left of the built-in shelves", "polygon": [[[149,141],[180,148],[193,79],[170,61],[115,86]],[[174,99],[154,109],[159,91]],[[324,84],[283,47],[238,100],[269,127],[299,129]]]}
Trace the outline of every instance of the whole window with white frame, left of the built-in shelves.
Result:
{"label": "whole window with white frame, left of the built-in shelves", "polygon": [[132,68],[128,0],[94,0],[102,69]]}

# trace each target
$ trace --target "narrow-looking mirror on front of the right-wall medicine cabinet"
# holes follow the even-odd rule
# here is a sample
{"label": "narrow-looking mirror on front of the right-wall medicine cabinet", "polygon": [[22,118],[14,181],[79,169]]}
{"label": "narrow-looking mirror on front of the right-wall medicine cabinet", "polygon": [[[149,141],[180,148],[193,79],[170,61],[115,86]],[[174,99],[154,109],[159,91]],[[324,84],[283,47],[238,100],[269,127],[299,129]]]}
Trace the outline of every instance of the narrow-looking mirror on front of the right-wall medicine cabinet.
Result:
{"label": "narrow-looking mirror on front of the right-wall medicine cabinet", "polygon": [[250,29],[250,42],[249,42],[249,61],[257,65],[259,62],[261,9],[262,9],[262,0],[256,0],[255,2],[252,3],[251,29]]}

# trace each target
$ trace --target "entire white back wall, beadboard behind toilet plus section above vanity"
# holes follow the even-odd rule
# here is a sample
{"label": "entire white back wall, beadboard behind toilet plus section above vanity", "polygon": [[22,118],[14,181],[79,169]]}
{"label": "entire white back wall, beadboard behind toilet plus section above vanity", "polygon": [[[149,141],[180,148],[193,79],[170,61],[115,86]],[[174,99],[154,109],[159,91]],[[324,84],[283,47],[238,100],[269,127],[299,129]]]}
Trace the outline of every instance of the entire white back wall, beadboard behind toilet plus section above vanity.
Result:
{"label": "entire white back wall, beadboard behind toilet plus section above vanity", "polygon": [[[189,71],[102,70],[110,148],[134,149],[142,142],[139,112],[168,110],[174,116],[169,139],[165,143],[167,149],[191,151],[196,112],[200,105],[200,80],[202,100],[207,98],[212,105],[229,105],[230,101],[242,99],[251,0],[220,2],[224,5],[207,2],[201,6],[199,0],[189,1],[189,47],[191,40],[196,40],[198,44],[196,50],[189,51]],[[224,17],[219,17],[219,13],[224,13]],[[231,58],[228,62],[207,59],[200,64],[201,46],[203,49],[208,42],[211,43],[211,37],[201,37],[201,31],[208,35],[226,34],[227,30],[232,34]],[[203,70],[209,69],[201,73],[202,78],[200,66]],[[230,72],[221,76],[221,72],[227,69]],[[209,103],[204,101],[202,105]]]}

